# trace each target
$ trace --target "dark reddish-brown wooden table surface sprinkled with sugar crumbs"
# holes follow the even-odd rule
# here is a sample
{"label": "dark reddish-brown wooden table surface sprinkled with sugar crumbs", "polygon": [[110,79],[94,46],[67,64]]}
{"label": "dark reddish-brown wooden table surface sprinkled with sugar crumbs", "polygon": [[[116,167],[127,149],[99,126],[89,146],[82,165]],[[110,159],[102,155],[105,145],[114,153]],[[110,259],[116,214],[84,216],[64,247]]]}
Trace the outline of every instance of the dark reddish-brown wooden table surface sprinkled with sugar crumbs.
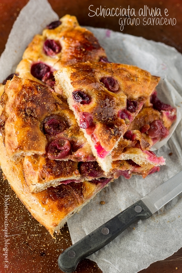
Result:
{"label": "dark reddish-brown wooden table surface sprinkled with sugar crumbs", "polygon": [[[0,0],[0,54],[5,48],[8,35],[12,25],[17,18],[20,10],[28,0]],[[115,31],[120,31],[118,17],[89,17],[88,7],[93,5],[96,8],[116,8],[121,6],[121,9],[130,8],[135,9],[136,17],[140,18],[142,22],[143,17],[139,16],[138,11],[147,5],[150,9],[160,8],[163,17],[164,9],[168,10],[167,18],[175,18],[176,24],[170,25],[146,25],[142,23],[138,26],[124,26],[123,33],[132,34],[135,36],[143,36],[146,39],[152,39],[157,42],[163,42],[167,45],[175,47],[182,53],[182,0],[49,0],[51,6],[58,13],[59,17],[65,14],[77,16],[77,19],[82,26],[94,26],[109,28]],[[93,14],[93,12],[92,12]],[[149,16],[147,16],[147,19]],[[23,204],[16,198],[14,192],[11,190],[7,181],[2,180],[0,184],[0,219],[3,219],[4,213],[4,195],[10,195],[10,248],[9,248],[9,268],[4,269],[3,249],[0,249],[0,272],[61,272],[57,266],[57,258],[59,253],[71,245],[69,230],[67,225],[62,229],[61,234],[52,239],[50,234],[42,227],[30,213],[25,209]],[[3,222],[0,223],[3,227]],[[2,229],[2,228],[1,228]],[[0,229],[0,230],[1,230]],[[0,242],[4,240],[4,233],[0,231]],[[77,273],[99,273],[102,272],[98,266],[88,259],[80,262],[76,270]],[[151,264],[147,269],[143,269],[140,273],[182,273],[182,248],[174,253],[171,257],[164,261],[157,261]]]}

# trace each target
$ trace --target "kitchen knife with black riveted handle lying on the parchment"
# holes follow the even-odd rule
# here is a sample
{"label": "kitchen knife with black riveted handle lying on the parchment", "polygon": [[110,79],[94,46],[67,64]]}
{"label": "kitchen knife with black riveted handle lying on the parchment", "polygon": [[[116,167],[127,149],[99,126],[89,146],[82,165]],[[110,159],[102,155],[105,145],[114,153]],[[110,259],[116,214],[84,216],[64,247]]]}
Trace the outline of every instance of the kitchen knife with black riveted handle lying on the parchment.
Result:
{"label": "kitchen knife with black riveted handle lying on the parchment", "polygon": [[181,192],[182,171],[64,250],[58,258],[59,268],[75,271],[80,260],[107,245],[134,221],[150,217]]}

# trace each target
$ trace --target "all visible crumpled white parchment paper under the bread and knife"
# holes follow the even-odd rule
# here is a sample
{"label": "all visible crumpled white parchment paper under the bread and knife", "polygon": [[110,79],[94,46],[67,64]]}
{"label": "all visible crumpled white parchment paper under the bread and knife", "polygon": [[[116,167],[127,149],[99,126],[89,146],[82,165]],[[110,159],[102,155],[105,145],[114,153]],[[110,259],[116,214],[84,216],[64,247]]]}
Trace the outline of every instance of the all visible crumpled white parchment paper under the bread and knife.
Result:
{"label": "all visible crumpled white parchment paper under the bread and knife", "polygon": [[[20,12],[1,55],[0,82],[15,71],[33,36],[57,19],[58,15],[48,1],[29,1]],[[171,128],[169,141],[165,139],[155,147],[159,148],[156,154],[166,158],[166,165],[161,167],[159,173],[145,179],[132,176],[126,180],[121,177],[110,183],[79,214],[69,219],[73,243],[182,170],[182,55],[172,47],[141,37],[106,29],[89,29],[106,49],[110,61],[137,65],[153,75],[161,76],[157,87],[159,98],[177,107],[178,118]],[[89,258],[96,261],[104,273],[135,273],[172,255],[182,247],[181,197],[177,196],[151,218],[133,224]],[[101,205],[100,201],[106,204]]]}

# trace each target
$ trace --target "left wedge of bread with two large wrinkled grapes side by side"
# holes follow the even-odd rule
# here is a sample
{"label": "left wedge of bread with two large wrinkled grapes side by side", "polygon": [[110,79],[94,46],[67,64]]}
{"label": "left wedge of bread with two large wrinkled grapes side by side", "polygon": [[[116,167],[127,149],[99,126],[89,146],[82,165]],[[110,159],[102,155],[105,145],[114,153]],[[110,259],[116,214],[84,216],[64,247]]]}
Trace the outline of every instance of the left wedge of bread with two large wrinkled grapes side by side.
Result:
{"label": "left wedge of bread with two large wrinkled grapes side by side", "polygon": [[15,76],[6,83],[1,105],[0,131],[12,161],[33,154],[94,160],[73,112],[47,86]]}

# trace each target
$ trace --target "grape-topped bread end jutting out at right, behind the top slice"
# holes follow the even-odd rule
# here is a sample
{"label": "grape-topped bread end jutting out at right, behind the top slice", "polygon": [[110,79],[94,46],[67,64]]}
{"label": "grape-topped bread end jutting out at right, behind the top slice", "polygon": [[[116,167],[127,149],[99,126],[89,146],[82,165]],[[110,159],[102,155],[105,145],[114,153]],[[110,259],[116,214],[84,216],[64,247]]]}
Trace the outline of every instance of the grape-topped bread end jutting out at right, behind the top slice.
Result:
{"label": "grape-topped bread end jutting out at right, behind the top slice", "polygon": [[152,146],[168,136],[169,129],[175,120],[176,108],[160,101],[157,92],[154,91],[130,124],[129,129],[139,130]]}

